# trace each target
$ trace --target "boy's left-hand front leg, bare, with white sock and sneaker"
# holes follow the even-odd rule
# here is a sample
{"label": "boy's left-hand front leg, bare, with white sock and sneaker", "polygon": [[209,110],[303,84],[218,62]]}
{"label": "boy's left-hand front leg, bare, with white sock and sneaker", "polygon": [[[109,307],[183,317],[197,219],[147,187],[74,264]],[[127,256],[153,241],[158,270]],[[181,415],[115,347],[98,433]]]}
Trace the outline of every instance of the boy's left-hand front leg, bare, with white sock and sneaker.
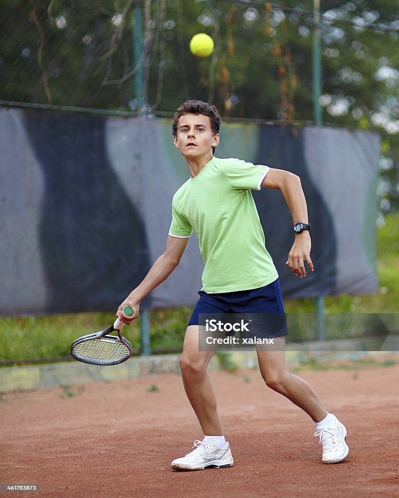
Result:
{"label": "boy's left-hand front leg, bare, with white sock and sneaker", "polygon": [[199,326],[187,327],[180,369],[184,389],[204,431],[203,441],[194,441],[194,450],[170,464],[174,470],[204,470],[233,467],[230,445],[222,435],[216,397],[207,368],[215,351],[199,351]]}

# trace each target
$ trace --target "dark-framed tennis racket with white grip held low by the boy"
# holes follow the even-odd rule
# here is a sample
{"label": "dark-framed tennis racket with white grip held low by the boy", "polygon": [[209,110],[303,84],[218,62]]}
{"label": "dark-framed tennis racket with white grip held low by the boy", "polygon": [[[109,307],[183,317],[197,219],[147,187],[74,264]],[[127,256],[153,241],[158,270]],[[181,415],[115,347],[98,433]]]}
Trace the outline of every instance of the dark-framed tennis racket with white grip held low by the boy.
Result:
{"label": "dark-framed tennis racket with white grip held low by the boy", "polygon": [[[123,312],[127,316],[133,315],[130,306],[125,306]],[[121,334],[124,325],[117,318],[112,327],[79,337],[71,344],[72,358],[91,365],[118,365],[126,362],[132,356],[132,346]],[[112,332],[118,332],[118,336],[110,336]]]}

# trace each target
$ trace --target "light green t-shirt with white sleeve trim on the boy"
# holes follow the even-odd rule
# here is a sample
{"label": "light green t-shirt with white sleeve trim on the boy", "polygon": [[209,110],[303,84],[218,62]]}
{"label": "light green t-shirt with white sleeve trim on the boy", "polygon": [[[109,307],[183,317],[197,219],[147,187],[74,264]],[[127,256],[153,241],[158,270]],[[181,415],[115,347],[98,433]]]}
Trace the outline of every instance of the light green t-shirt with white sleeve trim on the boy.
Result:
{"label": "light green t-shirt with white sleeve trim on the boy", "polygon": [[277,277],[251,189],[260,190],[269,168],[213,157],[174,194],[169,235],[194,231],[207,293],[256,289]]}

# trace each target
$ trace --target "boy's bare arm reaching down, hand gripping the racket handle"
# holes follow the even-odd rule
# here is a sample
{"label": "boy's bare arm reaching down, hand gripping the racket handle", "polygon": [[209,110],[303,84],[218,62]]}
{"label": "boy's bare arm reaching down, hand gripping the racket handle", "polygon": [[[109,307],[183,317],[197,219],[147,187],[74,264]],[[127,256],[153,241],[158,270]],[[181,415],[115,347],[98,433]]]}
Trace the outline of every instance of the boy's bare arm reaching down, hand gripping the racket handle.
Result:
{"label": "boy's bare arm reaching down, hand gripping the racket handle", "polygon": [[[138,318],[140,301],[154,290],[160,283],[172,273],[180,262],[184,249],[188,242],[187,238],[171,237],[168,235],[166,249],[151,266],[142,282],[129,294],[125,301],[118,308],[117,316],[123,322],[130,324],[132,320]],[[125,306],[131,306],[133,316],[127,317],[123,312]]]}

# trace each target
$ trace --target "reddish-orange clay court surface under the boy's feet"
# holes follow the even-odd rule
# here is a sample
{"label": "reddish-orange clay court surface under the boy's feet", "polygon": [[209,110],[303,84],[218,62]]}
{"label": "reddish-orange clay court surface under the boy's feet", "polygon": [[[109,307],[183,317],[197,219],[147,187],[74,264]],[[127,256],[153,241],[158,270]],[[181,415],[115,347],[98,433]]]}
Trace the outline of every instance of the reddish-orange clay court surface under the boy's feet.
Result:
{"label": "reddish-orange clay court surface under the boy's feet", "polygon": [[298,374],[347,426],[350,453],[340,464],[321,463],[306,414],[257,370],[240,370],[210,374],[234,467],[171,470],[202,433],[181,377],[162,374],[3,394],[0,483],[41,490],[0,495],[399,496],[399,365]]}

